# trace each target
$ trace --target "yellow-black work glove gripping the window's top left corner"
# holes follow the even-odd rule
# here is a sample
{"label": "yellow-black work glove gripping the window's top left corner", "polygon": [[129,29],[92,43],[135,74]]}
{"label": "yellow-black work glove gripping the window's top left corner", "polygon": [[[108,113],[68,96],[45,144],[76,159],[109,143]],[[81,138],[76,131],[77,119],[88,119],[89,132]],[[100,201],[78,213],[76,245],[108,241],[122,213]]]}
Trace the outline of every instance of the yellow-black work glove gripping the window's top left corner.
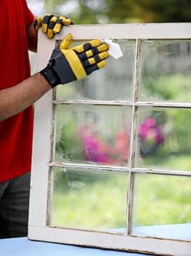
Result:
{"label": "yellow-black work glove gripping the window's top left corner", "polygon": [[42,32],[45,33],[49,39],[52,39],[55,34],[60,33],[63,25],[69,26],[70,24],[73,24],[73,22],[65,16],[47,14],[44,16],[43,20],[40,17],[36,17],[33,26],[36,33],[38,29],[42,27]]}

